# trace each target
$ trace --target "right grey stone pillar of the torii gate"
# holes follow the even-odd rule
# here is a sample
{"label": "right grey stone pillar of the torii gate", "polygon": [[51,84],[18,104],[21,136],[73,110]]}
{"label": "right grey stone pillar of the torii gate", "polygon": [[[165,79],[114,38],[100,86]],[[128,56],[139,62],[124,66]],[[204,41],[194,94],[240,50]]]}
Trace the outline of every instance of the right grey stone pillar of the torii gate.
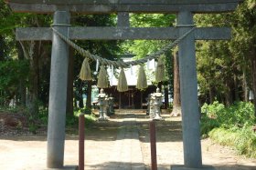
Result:
{"label": "right grey stone pillar of the torii gate", "polygon": [[[185,34],[193,25],[193,15],[190,11],[181,11],[177,14],[177,26],[181,28],[179,35]],[[182,77],[180,78],[182,135],[186,167],[202,166],[194,36],[194,33],[191,33],[178,44],[179,76]]]}

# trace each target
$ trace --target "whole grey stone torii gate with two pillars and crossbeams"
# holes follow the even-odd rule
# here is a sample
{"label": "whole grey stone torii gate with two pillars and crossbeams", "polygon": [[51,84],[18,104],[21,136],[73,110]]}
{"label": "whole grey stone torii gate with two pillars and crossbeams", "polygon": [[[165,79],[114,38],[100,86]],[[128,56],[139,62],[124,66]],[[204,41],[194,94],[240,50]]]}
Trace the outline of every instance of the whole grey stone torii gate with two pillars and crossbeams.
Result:
{"label": "whole grey stone torii gate with two pillars and crossbeams", "polygon": [[[193,26],[193,14],[234,11],[243,0],[6,0],[17,13],[54,14],[52,27],[69,39],[177,39]],[[117,27],[71,27],[70,13],[120,14]],[[166,13],[177,15],[176,27],[133,28],[129,13]],[[196,28],[178,44],[184,165],[202,168],[195,40],[229,39],[229,28]],[[62,168],[64,158],[65,119],[69,46],[53,34],[51,28],[17,28],[20,41],[52,40],[49,115],[48,168]],[[177,169],[182,167],[177,167]]]}

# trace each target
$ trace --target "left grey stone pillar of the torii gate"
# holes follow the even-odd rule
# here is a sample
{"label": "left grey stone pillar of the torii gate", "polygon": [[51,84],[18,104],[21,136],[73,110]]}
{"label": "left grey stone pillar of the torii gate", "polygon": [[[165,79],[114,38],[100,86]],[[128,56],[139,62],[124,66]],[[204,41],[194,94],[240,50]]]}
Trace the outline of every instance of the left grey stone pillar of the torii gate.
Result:
{"label": "left grey stone pillar of the torii gate", "polygon": [[[69,17],[67,11],[54,13],[52,26],[65,36],[69,35]],[[63,166],[68,67],[69,45],[58,35],[53,34],[48,105],[47,165],[49,168]]]}

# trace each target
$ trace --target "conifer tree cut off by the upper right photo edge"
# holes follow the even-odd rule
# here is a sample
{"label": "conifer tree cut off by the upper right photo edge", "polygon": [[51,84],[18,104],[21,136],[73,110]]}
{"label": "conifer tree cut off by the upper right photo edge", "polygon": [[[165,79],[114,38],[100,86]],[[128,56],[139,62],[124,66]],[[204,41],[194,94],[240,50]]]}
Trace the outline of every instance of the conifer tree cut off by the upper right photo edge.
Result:
{"label": "conifer tree cut off by the upper right photo edge", "polygon": [[[240,5],[234,18],[234,35],[237,40],[231,45],[235,55],[240,55],[244,59],[243,66],[250,65],[251,73],[249,74],[252,80],[251,89],[254,96],[256,95],[256,8],[255,1],[245,1]],[[237,48],[243,46],[243,48]],[[238,50],[240,49],[240,50]],[[256,97],[253,100],[255,108],[256,121]]]}

